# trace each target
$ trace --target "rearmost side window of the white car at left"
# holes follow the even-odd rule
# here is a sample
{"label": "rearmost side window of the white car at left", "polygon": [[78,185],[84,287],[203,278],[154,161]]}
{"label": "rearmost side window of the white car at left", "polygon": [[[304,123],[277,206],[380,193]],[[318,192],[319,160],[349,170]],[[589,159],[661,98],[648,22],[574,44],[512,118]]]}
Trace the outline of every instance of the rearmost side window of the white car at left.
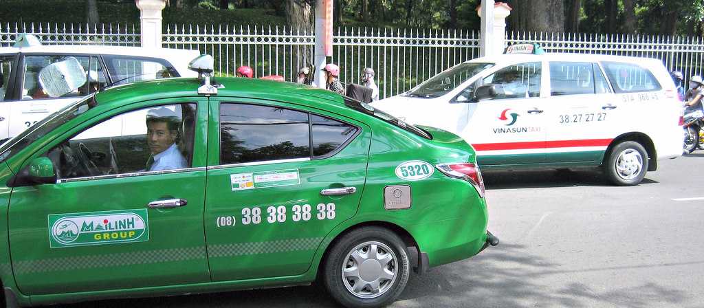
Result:
{"label": "rearmost side window of the white car at left", "polygon": [[179,77],[167,60],[134,56],[103,56],[113,84],[127,84],[141,80]]}

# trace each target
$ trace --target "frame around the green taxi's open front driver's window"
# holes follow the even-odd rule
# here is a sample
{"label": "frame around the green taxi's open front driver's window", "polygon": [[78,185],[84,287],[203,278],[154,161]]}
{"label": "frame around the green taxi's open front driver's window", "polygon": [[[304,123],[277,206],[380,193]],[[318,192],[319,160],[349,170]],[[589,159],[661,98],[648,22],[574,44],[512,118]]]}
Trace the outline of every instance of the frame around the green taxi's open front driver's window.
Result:
{"label": "frame around the green taxi's open front driver's window", "polygon": [[[63,129],[63,127],[58,127],[58,129],[61,129],[62,132],[51,136],[51,141],[48,141],[44,143],[43,146],[40,146],[39,148],[35,149],[31,155],[27,155],[27,159],[23,160],[21,162],[21,167],[27,167],[27,165],[32,161],[34,158],[39,158],[42,156],[45,156],[47,153],[49,153],[49,150],[54,149],[56,146],[59,144],[69,141],[70,139],[73,139],[73,137],[77,136],[78,134],[81,134],[83,131],[86,131],[87,129],[91,129],[92,127],[95,127],[96,125],[99,125],[103,122],[106,122],[107,120],[112,119],[113,117],[119,116],[119,115],[125,115],[127,113],[131,113],[133,111],[137,110],[142,110],[142,109],[148,109],[148,108],[156,108],[158,106],[163,106],[163,105],[179,105],[183,103],[193,103],[196,105],[196,115],[195,115],[195,121],[194,122],[194,142],[193,142],[193,148],[192,148],[192,158],[191,158],[191,167],[187,168],[182,168],[182,169],[170,169],[170,170],[160,170],[160,171],[144,171],[144,172],[124,172],[124,173],[118,173],[118,174],[108,174],[108,175],[98,175],[98,176],[89,176],[89,177],[75,177],[75,178],[68,178],[68,179],[57,179],[56,184],[63,184],[63,183],[71,183],[71,182],[79,182],[79,181],[94,181],[94,180],[101,180],[101,179],[119,179],[119,178],[127,178],[127,177],[142,177],[142,176],[148,176],[148,175],[155,175],[155,174],[175,174],[175,173],[181,173],[181,172],[194,172],[194,171],[204,171],[206,170],[206,149],[205,146],[202,146],[203,144],[206,143],[205,140],[199,140],[199,138],[205,134],[207,138],[207,129],[203,128],[200,131],[201,135],[199,136],[199,126],[203,127],[203,124],[199,124],[198,121],[199,119],[208,119],[207,113],[208,113],[208,100],[207,98],[203,98],[200,96],[185,96],[185,97],[175,97],[175,98],[163,98],[163,99],[158,99],[158,100],[153,100],[153,101],[137,101],[134,103],[128,103],[125,105],[120,105],[118,107],[115,107],[111,110],[102,110],[96,113],[93,110],[89,110],[89,112],[84,113],[83,115],[80,115],[79,117],[76,117],[75,119],[72,120],[72,122],[78,121],[76,124],[73,124],[72,127],[68,129]],[[90,112],[93,111],[93,112]],[[82,117],[89,117],[87,119],[82,119]],[[66,124],[68,124],[67,122]],[[63,125],[66,125],[63,124]],[[62,125],[62,126],[63,126]],[[46,136],[44,137],[46,138]],[[39,140],[37,140],[39,141]],[[34,142],[37,142],[34,141]],[[201,146],[199,146],[199,144]],[[56,167],[56,166],[55,166]]]}

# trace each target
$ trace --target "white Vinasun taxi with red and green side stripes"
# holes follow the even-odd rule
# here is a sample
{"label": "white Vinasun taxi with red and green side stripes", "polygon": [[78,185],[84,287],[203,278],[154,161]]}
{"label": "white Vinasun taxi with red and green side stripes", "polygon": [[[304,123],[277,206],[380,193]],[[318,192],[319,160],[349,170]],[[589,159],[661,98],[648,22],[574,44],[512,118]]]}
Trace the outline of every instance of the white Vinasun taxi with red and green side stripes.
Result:
{"label": "white Vinasun taxi with red and green side stripes", "polygon": [[603,166],[615,184],[635,185],[682,153],[682,103],[657,59],[477,58],[372,105],[462,136],[482,169]]}

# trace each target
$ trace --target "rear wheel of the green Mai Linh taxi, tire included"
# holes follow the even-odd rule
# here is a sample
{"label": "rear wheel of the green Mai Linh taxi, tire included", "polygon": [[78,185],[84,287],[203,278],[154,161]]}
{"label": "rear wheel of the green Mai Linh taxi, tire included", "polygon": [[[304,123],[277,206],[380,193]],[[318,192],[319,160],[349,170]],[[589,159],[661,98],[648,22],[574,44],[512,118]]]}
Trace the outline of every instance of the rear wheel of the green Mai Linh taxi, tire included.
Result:
{"label": "rear wheel of the green Mai Linh taxi, tire included", "polygon": [[344,235],[323,268],[330,295],[346,307],[382,307],[406,288],[410,266],[403,240],[379,227]]}

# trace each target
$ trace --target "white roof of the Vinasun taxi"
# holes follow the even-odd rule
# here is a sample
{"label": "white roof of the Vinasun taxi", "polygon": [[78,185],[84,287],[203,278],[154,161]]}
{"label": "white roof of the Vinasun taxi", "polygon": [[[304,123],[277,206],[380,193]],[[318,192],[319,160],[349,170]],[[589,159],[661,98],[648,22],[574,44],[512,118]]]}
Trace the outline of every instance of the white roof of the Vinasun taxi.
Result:
{"label": "white roof of the Vinasun taxi", "polygon": [[639,58],[629,56],[610,56],[610,55],[594,55],[589,53],[543,53],[541,55],[533,54],[501,54],[495,56],[486,56],[468,60],[465,63],[515,63],[516,61],[565,61],[565,62],[598,62],[598,61],[616,61],[626,63],[648,63],[653,65],[656,63],[662,64],[662,61],[654,58]]}

